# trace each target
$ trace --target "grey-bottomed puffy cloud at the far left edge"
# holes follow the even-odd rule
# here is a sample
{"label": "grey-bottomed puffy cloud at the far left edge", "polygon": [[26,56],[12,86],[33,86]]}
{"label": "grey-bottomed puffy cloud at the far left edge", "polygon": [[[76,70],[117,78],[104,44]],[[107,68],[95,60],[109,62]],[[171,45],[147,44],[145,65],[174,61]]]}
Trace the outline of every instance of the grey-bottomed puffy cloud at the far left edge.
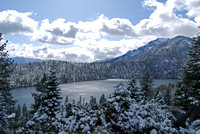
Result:
{"label": "grey-bottomed puffy cloud at the far left edge", "polygon": [[3,34],[30,34],[37,29],[38,22],[30,18],[31,12],[20,13],[15,10],[0,12],[0,32]]}

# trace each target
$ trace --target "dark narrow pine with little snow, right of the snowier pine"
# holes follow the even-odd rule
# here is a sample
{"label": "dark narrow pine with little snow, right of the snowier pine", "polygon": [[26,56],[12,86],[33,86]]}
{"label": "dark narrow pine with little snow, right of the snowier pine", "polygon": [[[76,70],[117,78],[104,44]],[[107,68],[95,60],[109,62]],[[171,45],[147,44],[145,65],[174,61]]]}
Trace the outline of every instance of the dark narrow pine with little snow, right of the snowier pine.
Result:
{"label": "dark narrow pine with little snow, right of the snowier pine", "polygon": [[149,101],[152,97],[153,79],[149,72],[146,72],[140,80],[141,91],[143,92],[143,99]]}

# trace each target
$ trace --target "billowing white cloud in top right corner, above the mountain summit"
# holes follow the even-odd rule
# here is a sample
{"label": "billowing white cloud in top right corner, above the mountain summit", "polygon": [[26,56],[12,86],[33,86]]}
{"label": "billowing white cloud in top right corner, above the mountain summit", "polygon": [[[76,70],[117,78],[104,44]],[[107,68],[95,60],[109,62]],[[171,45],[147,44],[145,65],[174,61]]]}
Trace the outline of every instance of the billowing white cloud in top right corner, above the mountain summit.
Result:
{"label": "billowing white cloud in top right corner, above the mountain summit", "polygon": [[[189,0],[186,1],[189,2]],[[174,37],[185,35],[191,37],[198,32],[198,24],[196,22],[182,17],[177,12],[178,10],[183,10],[183,1],[181,4],[179,1],[179,5],[177,5],[172,0],[168,0],[166,3],[145,0],[143,4],[155,9],[148,19],[143,19],[134,26],[138,36]]]}

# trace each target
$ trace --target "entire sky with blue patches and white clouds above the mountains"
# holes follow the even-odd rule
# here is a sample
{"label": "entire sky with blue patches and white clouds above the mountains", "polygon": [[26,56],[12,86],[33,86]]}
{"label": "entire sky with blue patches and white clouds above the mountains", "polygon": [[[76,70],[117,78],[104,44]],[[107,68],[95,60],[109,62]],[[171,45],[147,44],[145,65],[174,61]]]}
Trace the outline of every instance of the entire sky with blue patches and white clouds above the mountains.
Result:
{"label": "entire sky with blue patches and white clouds above the mountains", "polygon": [[199,0],[1,0],[11,57],[92,62],[156,38],[193,37]]}

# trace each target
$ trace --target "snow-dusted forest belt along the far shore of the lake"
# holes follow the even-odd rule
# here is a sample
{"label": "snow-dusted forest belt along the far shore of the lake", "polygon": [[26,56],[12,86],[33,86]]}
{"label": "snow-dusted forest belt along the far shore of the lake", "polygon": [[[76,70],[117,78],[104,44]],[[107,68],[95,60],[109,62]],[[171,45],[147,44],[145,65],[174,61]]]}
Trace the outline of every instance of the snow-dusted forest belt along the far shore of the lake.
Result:
{"label": "snow-dusted forest belt along the far shore of the lake", "polygon": [[55,62],[55,70],[61,83],[104,80],[104,79],[130,79],[135,72],[137,78],[142,78],[143,72],[151,72],[155,79],[179,78],[182,64],[174,62],[154,61],[148,62],[93,62],[72,63],[66,61],[46,61],[15,65],[12,82],[16,87],[35,85],[44,74],[48,73],[51,64]]}

